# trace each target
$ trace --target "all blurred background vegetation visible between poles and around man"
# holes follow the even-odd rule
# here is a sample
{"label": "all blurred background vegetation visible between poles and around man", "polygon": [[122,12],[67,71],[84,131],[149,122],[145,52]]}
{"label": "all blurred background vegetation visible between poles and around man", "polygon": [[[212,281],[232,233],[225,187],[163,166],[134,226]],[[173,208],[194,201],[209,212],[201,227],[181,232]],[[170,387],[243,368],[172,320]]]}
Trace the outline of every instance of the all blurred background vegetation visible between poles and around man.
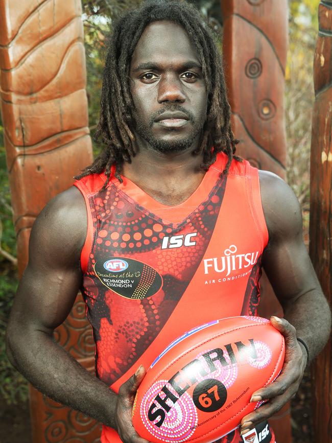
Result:
{"label": "all blurred background vegetation visible between poles and around man", "polygon": [[[227,0],[224,0],[227,1]],[[141,0],[83,0],[83,24],[87,66],[87,95],[91,134],[96,129],[102,82],[104,40],[108,22]],[[220,0],[192,1],[209,19],[222,38]],[[307,239],[309,221],[309,172],[311,112],[314,101],[313,55],[318,32],[319,0],[289,0],[289,56],[286,71],[286,125],[288,137],[288,181],[299,198]],[[98,147],[93,146],[94,154]],[[5,354],[5,330],[17,288],[16,243],[6,169],[4,128],[0,117],[0,397],[8,404],[27,400],[26,381]]]}

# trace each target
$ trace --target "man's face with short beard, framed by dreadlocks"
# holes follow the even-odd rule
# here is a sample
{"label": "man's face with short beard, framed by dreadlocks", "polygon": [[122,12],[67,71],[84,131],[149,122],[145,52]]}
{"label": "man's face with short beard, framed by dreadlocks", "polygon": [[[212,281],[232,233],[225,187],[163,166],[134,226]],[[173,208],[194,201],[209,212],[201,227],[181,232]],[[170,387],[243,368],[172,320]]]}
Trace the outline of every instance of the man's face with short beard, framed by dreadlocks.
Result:
{"label": "man's face with short beard, framed by dreadlocks", "polygon": [[171,21],[155,21],[141,35],[130,64],[135,133],[159,152],[197,147],[207,92],[194,44]]}

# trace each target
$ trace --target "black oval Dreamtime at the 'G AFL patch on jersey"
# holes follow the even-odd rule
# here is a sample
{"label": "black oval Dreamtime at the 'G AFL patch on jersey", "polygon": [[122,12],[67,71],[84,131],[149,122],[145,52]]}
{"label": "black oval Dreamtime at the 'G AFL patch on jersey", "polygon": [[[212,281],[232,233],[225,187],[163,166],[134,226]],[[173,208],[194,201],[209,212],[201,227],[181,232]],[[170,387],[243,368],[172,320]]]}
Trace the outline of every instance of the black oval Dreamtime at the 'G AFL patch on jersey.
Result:
{"label": "black oval Dreamtime at the 'G AFL patch on jersey", "polygon": [[97,262],[94,272],[104,286],[126,298],[151,297],[162,286],[162,277],[154,268],[127,257]]}

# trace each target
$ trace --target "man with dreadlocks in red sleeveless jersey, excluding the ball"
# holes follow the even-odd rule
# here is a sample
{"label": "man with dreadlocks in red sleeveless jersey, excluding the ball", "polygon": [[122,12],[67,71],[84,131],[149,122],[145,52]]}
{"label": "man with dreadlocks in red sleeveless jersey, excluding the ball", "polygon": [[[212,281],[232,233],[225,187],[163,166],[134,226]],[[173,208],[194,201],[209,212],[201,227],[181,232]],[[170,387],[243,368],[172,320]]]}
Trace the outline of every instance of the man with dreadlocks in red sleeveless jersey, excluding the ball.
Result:
{"label": "man with dreadlocks in red sleeveless jersey, excluding the ball", "polygon": [[[193,7],[153,1],[114,24],[98,128],[105,150],[37,218],[8,327],[13,364],[102,422],[102,442],[146,442],[131,423],[145,368],[187,329],[254,315],[262,265],[287,319],[271,318],[286,359],[251,399],[269,402],[222,441],[265,427],[327,340],[330,312],[298,202],[278,177],[233,156],[229,120],[218,50]],[[97,377],[52,339],[80,287]]]}

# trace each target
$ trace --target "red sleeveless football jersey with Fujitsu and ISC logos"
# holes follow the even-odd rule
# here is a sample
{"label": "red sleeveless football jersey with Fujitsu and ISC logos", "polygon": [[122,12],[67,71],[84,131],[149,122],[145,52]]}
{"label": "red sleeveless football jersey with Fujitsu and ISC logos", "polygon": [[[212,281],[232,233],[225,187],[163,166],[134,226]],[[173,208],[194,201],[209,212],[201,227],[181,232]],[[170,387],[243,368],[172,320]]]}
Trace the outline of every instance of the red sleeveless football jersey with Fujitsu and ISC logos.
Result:
{"label": "red sleeveless football jersey with Fujitsu and ISC logos", "polygon": [[[121,183],[114,169],[105,190],[103,173],[75,182],[87,207],[82,293],[96,375],[115,392],[187,330],[256,314],[268,243],[258,170],[233,160],[224,175],[226,160],[218,154],[177,206],[157,202],[126,177]],[[104,426],[101,441],[121,440]],[[243,439],[234,431],[219,441]]]}

